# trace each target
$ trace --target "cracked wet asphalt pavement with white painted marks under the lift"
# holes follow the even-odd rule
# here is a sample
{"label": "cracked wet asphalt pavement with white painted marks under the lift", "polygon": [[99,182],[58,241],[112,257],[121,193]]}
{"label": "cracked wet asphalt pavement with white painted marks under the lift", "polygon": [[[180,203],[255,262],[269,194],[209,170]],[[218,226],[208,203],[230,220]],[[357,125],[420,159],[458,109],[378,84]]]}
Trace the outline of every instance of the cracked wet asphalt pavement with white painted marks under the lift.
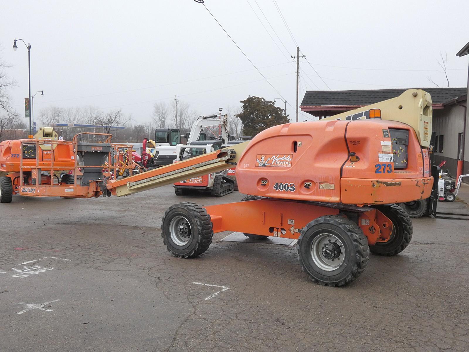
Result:
{"label": "cracked wet asphalt pavement with white painted marks under the lift", "polygon": [[[0,351],[469,349],[467,222],[414,219],[403,253],[371,256],[342,288],[311,283],[295,247],[222,242],[221,233],[196,259],[166,251],[167,207],[243,196],[177,197],[165,186],[1,204]],[[439,210],[469,213],[461,202]],[[207,300],[221,289],[194,282],[229,289]],[[18,314],[25,305],[43,309]]]}

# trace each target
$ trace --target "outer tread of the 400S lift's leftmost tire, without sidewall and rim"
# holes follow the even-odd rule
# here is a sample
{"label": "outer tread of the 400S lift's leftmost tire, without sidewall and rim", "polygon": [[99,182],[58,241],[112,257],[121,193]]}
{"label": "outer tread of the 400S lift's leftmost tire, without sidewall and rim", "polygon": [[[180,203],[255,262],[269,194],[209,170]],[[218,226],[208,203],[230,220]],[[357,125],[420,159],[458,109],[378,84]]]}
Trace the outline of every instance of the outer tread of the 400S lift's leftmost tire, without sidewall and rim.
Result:
{"label": "outer tread of the 400S lift's leftmost tire, without sidewall and rim", "polygon": [[185,255],[178,255],[174,254],[174,257],[178,258],[196,258],[200,254],[204,253],[210,244],[212,243],[212,237],[213,237],[213,224],[212,221],[210,220],[210,215],[207,214],[207,211],[197,205],[196,203],[193,202],[184,202],[184,203],[179,203],[179,204],[174,204],[171,207],[169,207],[165,214],[163,215],[163,218],[161,219],[161,237],[163,237],[163,244],[166,245],[166,249],[171,252],[171,250],[168,247],[168,244],[166,242],[166,238],[163,236],[163,222],[165,221],[165,217],[168,214],[169,211],[171,211],[174,208],[183,208],[195,218],[196,223],[197,223],[197,232],[199,233],[198,241],[197,244],[194,246],[192,251],[190,253],[185,254]]}

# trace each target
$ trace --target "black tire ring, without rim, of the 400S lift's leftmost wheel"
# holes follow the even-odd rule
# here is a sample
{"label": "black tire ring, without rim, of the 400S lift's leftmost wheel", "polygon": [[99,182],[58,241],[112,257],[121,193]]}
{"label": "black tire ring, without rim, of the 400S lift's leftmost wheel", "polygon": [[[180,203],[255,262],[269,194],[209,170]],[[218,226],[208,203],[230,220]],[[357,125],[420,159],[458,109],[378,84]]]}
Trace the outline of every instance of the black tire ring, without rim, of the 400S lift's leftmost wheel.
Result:
{"label": "black tire ring, without rim, of the 400S lift's leftmost wheel", "polygon": [[[190,225],[189,241],[177,245],[171,238],[170,224],[176,216],[182,216]],[[213,224],[206,210],[196,203],[184,202],[169,207],[161,219],[161,237],[169,252],[178,258],[195,258],[204,253],[213,237]]]}

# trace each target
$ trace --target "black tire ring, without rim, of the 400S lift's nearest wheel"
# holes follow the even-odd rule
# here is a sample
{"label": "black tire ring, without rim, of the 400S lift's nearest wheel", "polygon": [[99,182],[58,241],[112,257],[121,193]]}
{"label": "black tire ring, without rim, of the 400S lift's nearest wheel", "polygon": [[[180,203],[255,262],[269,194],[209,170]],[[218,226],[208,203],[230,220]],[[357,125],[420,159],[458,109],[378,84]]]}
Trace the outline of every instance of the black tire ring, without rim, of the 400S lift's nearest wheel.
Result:
{"label": "black tire ring, without rim, of the 400S lift's nearest wheel", "polygon": [[[326,271],[315,264],[311,247],[315,237],[324,233],[339,238],[345,259],[339,268]],[[342,250],[341,250],[342,251]],[[325,215],[309,222],[298,238],[298,260],[310,279],[323,286],[346,285],[363,273],[370,258],[368,239],[362,229],[350,219],[340,215]]]}

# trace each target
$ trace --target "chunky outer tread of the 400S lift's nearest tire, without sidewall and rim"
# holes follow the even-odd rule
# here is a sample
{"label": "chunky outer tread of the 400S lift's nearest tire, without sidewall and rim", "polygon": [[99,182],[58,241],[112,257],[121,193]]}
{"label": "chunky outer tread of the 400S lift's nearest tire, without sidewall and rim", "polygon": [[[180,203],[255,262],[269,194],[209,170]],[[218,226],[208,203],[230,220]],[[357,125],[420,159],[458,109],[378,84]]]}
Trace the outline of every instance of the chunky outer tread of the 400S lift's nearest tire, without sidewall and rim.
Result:
{"label": "chunky outer tread of the 400S lift's nearest tire, without sidewall and rim", "polygon": [[[355,256],[354,267],[352,268],[351,272],[339,282],[335,282],[335,283],[323,282],[311,276],[308,270],[305,268],[303,264],[303,260],[301,260],[301,257],[300,257],[300,245],[303,239],[303,234],[306,233],[306,231],[308,231],[314,225],[317,225],[320,223],[329,223],[329,224],[333,224],[333,225],[340,227],[342,230],[344,230],[345,232],[349,234],[355,247],[356,256]],[[301,231],[300,238],[298,238],[297,252],[298,252],[298,260],[300,261],[301,268],[310,277],[310,279],[314,283],[318,283],[320,285],[330,286],[330,287],[343,286],[356,280],[358,276],[362,275],[363,270],[365,270],[366,265],[368,264],[368,260],[370,258],[370,249],[368,246],[368,239],[363,234],[362,229],[360,229],[360,227],[352,220],[344,218],[340,215],[325,215],[325,216],[321,216],[318,219],[315,219],[309,222]]]}

